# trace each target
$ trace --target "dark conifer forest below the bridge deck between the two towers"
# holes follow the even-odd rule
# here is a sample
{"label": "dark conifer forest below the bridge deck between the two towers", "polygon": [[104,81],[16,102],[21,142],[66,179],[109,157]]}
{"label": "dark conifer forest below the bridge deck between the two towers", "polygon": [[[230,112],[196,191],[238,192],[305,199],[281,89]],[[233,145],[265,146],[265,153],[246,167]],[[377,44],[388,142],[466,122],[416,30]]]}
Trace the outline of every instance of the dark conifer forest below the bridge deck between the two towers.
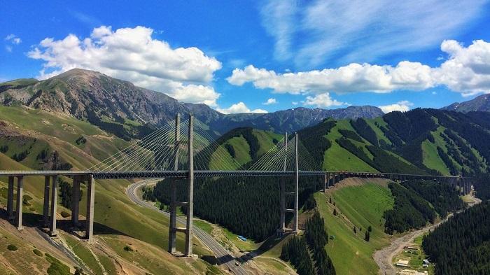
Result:
{"label": "dark conifer forest below the bridge deck between the two towers", "polygon": [[[293,190],[293,178],[285,177],[286,191]],[[279,226],[279,180],[277,177],[198,178],[194,186],[194,214],[218,223],[236,234],[263,241]],[[169,204],[169,181],[155,185],[147,199]],[[178,184],[177,199],[186,201],[186,183]],[[300,177],[300,207],[309,195],[323,186],[323,177]],[[148,191],[147,191],[148,192]],[[286,208],[293,208],[286,197]],[[311,203],[311,202],[310,202]],[[291,216],[286,216],[290,219]]]}

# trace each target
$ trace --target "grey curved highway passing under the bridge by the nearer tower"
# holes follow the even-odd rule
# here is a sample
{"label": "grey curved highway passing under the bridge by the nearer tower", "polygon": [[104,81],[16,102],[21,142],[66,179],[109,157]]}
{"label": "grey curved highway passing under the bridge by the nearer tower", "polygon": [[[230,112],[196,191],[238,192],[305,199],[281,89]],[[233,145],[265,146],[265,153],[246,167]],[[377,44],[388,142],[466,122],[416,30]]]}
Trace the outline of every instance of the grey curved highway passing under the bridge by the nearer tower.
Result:
{"label": "grey curved highway passing under the bridge by the nearer tower", "polygon": [[[158,209],[156,206],[153,206],[152,204],[148,204],[145,202],[143,199],[140,199],[137,196],[137,189],[142,187],[143,185],[147,185],[148,183],[151,183],[152,180],[144,180],[144,181],[139,181],[137,183],[133,183],[126,189],[126,195],[129,197],[134,203],[138,204],[139,206],[146,207],[149,209],[154,209],[156,211],[159,211],[160,213],[163,213],[165,216],[170,217],[170,213],[161,211]],[[177,216],[177,223],[181,223],[183,225],[186,224],[186,220]],[[213,237],[211,237],[207,232],[204,232],[204,230],[201,230],[198,227],[193,227],[193,232],[195,237],[199,238],[206,246],[213,251],[214,255],[216,255],[216,258],[218,259],[225,259],[226,261],[223,263],[226,267],[228,267],[228,270],[230,270],[232,273],[237,274],[237,275],[246,275],[248,272],[241,267],[241,265],[235,265],[235,256],[230,254],[230,251],[227,251],[221,244],[218,243]]]}

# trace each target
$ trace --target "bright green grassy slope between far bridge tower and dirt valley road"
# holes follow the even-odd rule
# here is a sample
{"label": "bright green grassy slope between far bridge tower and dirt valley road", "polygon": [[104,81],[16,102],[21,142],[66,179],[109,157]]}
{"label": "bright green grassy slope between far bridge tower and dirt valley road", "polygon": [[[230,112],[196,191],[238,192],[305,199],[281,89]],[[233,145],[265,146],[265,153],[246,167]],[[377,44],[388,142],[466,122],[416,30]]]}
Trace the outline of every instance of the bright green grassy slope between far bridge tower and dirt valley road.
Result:
{"label": "bright green grassy slope between far bridge tower and dirt valley road", "polygon": [[[336,206],[328,203],[328,197]],[[381,246],[388,244],[384,234],[384,220],[381,218],[386,209],[393,207],[390,190],[383,185],[367,183],[361,186],[349,186],[324,195],[315,194],[318,210],[325,218],[325,227],[329,235],[326,246],[332,258],[337,274],[377,274],[378,267],[372,259],[372,253]],[[339,216],[333,216],[333,208]],[[345,217],[345,218],[344,218]],[[364,241],[367,227],[372,226],[371,239]],[[353,233],[353,226],[362,227]]]}

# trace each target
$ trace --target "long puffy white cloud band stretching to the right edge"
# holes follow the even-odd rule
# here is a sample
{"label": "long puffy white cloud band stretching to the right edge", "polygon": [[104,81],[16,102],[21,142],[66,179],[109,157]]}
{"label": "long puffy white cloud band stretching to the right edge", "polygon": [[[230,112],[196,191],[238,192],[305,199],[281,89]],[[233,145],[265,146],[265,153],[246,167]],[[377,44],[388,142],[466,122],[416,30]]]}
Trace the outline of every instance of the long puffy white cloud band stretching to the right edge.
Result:
{"label": "long puffy white cloud band stretching to the right edge", "polygon": [[232,85],[253,83],[276,93],[325,94],[335,92],[387,93],[394,90],[426,90],[445,85],[463,96],[490,92],[490,43],[473,41],[468,47],[454,40],[441,44],[447,59],[439,67],[402,61],[396,66],[351,63],[335,69],[276,73],[248,65],[234,69],[227,78]]}

